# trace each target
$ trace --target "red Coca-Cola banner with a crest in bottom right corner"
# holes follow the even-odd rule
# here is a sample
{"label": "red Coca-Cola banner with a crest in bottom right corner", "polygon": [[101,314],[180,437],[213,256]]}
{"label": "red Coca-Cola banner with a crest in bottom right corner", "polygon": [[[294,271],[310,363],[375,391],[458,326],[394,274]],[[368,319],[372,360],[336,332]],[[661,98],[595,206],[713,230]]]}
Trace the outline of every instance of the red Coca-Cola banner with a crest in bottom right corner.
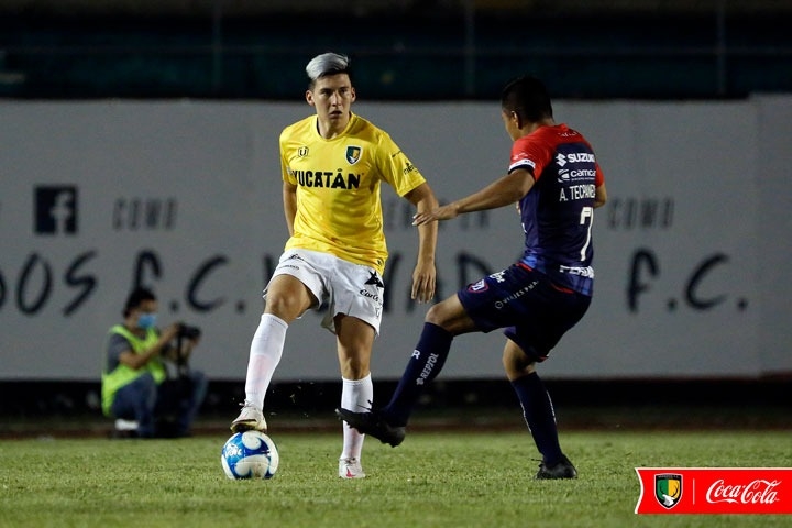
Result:
{"label": "red Coca-Cola banner with a crest in bottom right corner", "polygon": [[792,468],[636,468],[636,514],[792,514]]}

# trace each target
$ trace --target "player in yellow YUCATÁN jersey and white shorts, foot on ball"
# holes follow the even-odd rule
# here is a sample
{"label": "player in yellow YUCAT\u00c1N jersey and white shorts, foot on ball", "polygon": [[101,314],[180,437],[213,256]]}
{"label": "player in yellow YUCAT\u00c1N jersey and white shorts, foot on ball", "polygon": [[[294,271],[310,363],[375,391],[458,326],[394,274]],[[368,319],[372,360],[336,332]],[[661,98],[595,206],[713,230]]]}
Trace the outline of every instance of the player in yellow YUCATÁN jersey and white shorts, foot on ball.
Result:
{"label": "player in yellow YUCAT\u00c1N jersey and white shorts, foot on ball", "polygon": [[[316,109],[280,134],[283,204],[289,239],[264,290],[253,336],[242,413],[234,432],[266,431],[264,396],[280,361],[288,326],[327,305],[322,326],[337,338],[341,407],[370,408],[371,353],[383,310],[387,246],[381,184],[391,185],[417,212],[437,207],[429,184],[391,136],[351,111],[355,89],[346,56],[324,53],[306,66],[306,101]],[[418,230],[411,296],[435,296],[437,222]],[[361,479],[363,435],[343,425],[339,476]]]}

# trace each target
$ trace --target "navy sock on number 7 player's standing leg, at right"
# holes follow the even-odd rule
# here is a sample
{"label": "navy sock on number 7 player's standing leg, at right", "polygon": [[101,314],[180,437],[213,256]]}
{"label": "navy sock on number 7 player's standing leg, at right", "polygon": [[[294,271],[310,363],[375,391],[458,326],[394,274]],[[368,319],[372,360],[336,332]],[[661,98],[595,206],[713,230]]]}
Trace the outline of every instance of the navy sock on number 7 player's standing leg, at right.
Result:
{"label": "navy sock on number 7 player's standing leg, at right", "polygon": [[518,377],[512,382],[522,406],[522,417],[534,437],[537,449],[547,465],[554,465],[561,460],[561,447],[558,441],[556,413],[550,395],[536,372]]}

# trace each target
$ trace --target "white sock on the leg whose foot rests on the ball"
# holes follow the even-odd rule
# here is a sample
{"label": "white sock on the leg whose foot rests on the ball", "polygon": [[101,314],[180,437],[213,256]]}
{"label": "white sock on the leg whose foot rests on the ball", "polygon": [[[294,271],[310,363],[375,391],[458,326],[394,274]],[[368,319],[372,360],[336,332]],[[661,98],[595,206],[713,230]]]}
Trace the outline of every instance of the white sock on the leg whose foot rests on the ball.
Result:
{"label": "white sock on the leg whose foot rests on the ball", "polygon": [[288,324],[283,319],[264,314],[253,334],[248,360],[245,399],[260,408],[264,407],[264,396],[280,362],[287,329]]}

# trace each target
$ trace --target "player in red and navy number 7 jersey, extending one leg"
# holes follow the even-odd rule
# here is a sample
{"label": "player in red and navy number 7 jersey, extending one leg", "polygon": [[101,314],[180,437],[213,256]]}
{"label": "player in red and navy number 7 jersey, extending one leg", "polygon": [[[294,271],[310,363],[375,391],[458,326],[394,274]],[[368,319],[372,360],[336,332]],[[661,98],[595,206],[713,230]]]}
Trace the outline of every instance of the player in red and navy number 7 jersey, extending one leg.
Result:
{"label": "player in red and navy number 7 jersey, extending one leg", "polygon": [[419,212],[415,226],[517,205],[525,231],[518,262],[432,306],[391,402],[370,413],[337,413],[362,433],[398,446],[424,388],[446,362],[454,337],[504,329],[503,363],[542,455],[537,479],[575,479],[561,451],[556,417],[536,364],[581,320],[593,293],[592,221],[607,200],[594,151],[576,131],[553,120],[550,96],[534,77],[506,85],[501,99],[514,141],[508,172],[465,198]]}

